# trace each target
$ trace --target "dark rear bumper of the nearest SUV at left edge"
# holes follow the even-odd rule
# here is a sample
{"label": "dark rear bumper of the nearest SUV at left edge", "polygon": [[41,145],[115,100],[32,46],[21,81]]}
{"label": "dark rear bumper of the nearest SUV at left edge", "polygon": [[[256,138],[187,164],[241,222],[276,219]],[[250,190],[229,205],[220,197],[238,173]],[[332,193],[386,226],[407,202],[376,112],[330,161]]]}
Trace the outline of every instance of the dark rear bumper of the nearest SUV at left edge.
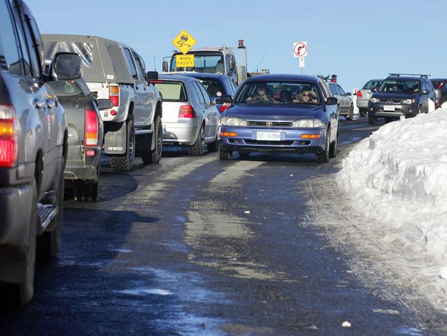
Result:
{"label": "dark rear bumper of the nearest SUV at left edge", "polygon": [[0,280],[1,264],[19,260],[28,242],[32,184],[0,188]]}

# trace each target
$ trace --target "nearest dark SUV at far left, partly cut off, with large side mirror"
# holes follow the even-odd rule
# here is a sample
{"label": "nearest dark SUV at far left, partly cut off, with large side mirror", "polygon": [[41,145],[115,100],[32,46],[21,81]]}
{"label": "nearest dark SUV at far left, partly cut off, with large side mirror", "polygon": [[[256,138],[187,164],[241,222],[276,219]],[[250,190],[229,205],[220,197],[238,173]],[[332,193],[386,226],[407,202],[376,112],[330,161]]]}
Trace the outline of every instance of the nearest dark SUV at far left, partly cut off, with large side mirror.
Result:
{"label": "nearest dark SUV at far left, partly cut off, with large side mirror", "polygon": [[61,244],[67,120],[49,81],[80,76],[76,54],[56,54],[44,74],[43,43],[21,0],[0,0],[0,304],[34,292],[36,242]]}

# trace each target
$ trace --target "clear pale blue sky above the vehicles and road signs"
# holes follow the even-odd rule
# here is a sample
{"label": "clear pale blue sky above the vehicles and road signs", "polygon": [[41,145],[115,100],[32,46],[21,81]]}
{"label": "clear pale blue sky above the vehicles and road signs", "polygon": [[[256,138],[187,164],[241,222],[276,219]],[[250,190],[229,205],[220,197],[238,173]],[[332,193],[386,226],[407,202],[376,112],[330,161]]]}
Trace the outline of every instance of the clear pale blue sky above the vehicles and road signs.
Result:
{"label": "clear pale blue sky above the vehicles and road signs", "polygon": [[[89,34],[131,45],[153,69],[182,30],[195,47],[246,41],[248,70],[298,73],[293,43],[307,41],[305,74],[338,74],[345,90],[389,72],[447,76],[447,1],[25,0],[42,33]],[[243,53],[237,54],[239,65]]]}

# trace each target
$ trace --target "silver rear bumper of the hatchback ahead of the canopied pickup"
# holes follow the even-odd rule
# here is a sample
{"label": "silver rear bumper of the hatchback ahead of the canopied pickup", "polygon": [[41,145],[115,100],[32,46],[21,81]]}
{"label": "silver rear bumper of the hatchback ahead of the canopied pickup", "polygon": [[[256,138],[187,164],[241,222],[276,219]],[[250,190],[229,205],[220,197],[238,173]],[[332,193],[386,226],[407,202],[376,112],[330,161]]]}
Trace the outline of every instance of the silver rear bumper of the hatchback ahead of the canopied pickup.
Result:
{"label": "silver rear bumper of the hatchback ahead of the canopied pickup", "polygon": [[194,145],[199,134],[201,123],[199,120],[188,120],[184,123],[170,123],[163,122],[163,143],[166,145],[179,144],[179,145]]}

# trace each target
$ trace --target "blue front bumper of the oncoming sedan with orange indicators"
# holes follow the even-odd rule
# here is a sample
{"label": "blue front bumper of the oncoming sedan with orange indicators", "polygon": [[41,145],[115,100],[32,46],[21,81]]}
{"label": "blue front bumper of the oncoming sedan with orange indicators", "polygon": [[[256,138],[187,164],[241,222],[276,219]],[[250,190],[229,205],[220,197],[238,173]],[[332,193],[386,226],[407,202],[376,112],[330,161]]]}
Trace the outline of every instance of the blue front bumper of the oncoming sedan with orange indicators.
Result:
{"label": "blue front bumper of the oncoming sedan with orange indicators", "polygon": [[[258,132],[279,132],[280,140],[257,140]],[[230,133],[231,135],[225,135]],[[222,151],[294,151],[298,154],[321,153],[326,147],[326,129],[276,129],[268,127],[231,127],[221,125],[219,149]],[[318,138],[312,138],[318,136]]]}

